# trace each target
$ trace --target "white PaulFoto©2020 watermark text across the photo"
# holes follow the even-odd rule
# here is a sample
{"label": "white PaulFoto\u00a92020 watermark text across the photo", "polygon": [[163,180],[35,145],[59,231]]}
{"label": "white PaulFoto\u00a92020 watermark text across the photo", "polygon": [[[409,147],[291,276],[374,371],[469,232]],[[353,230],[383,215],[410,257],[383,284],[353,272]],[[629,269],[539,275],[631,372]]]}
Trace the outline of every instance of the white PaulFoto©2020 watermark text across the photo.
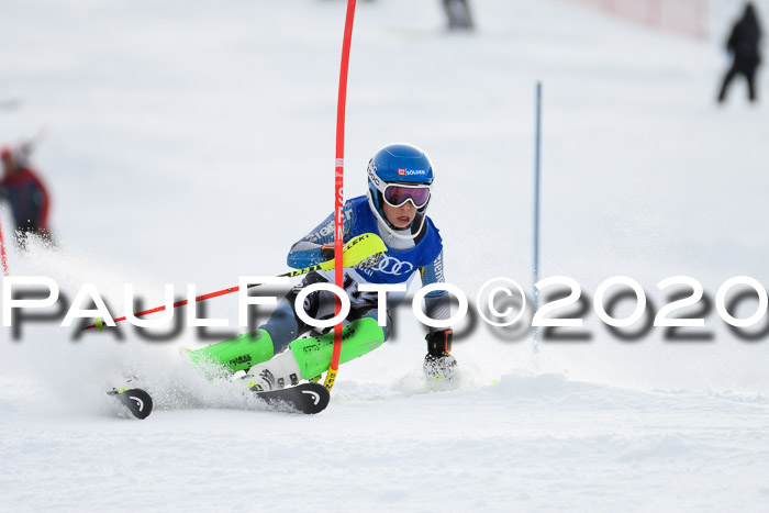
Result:
{"label": "white PaulFoto\u00a92020 watermark text across the photo", "polygon": [[[237,291],[239,327],[253,327],[249,310],[255,305],[275,306],[279,294],[249,294],[248,289],[255,283],[264,286],[289,287],[290,281],[283,277],[250,276],[241,277]],[[469,315],[479,316],[495,330],[511,326],[519,328],[542,330],[544,339],[578,341],[590,339],[579,330],[584,319],[594,314],[609,332],[623,341],[635,341],[647,335],[653,328],[666,330],[668,339],[712,339],[712,334],[703,333],[705,317],[715,313],[717,317],[738,337],[745,341],[759,341],[769,336],[769,317],[767,316],[767,290],[756,279],[748,276],[735,276],[718,287],[715,297],[704,291],[699,280],[689,276],[673,276],[656,283],[658,291],[672,291],[667,302],[657,308],[642,285],[627,276],[614,276],[605,279],[595,289],[592,301],[577,280],[566,276],[553,276],[535,285],[533,298],[527,298],[524,289],[514,280],[499,277],[484,282],[475,301],[458,287],[450,283],[432,283],[416,291],[412,301],[413,315],[431,328],[446,328],[461,324]],[[30,292],[33,292],[30,297]],[[126,305],[134,305],[136,298],[134,287],[123,287],[123,300]],[[328,328],[349,315],[350,300],[344,289],[328,282],[308,285],[299,290],[294,303],[304,304],[309,294],[317,291],[334,293],[341,303],[341,311],[332,319],[313,319],[303,308],[296,309],[299,319],[319,330]],[[424,311],[424,298],[446,291],[453,298],[456,308],[449,319],[431,319]],[[550,291],[550,293],[546,293]],[[138,328],[158,328],[175,321],[175,313],[183,306],[183,319],[190,327],[229,327],[229,319],[209,319],[201,308],[194,285],[187,286],[187,299],[175,301],[175,288],[165,286],[164,304],[151,309],[148,314],[138,315],[130,310],[124,317],[114,317],[102,295],[93,285],[82,285],[69,305],[60,293],[56,281],[43,276],[7,277],[2,279],[2,326],[12,327],[15,323],[60,319],[60,326],[69,327],[76,320],[85,324],[97,321],[99,326],[114,327],[125,322]],[[390,293],[405,294],[405,283],[360,283],[356,294],[369,294],[371,308],[378,311],[378,323],[387,323],[387,298]],[[359,298],[358,298],[359,299]],[[745,315],[743,303],[756,303],[749,315]],[[617,315],[622,303],[629,302],[629,313]],[[472,309],[470,308],[472,306]],[[56,308],[53,315],[34,315]],[[627,310],[625,308],[625,310]],[[737,315],[737,310],[742,314]],[[715,312],[713,312],[715,311]],[[200,315],[202,313],[202,315]],[[178,317],[178,315],[176,315]],[[756,327],[756,326],[762,326]],[[88,326],[90,327],[90,326]],[[631,328],[632,330],[627,330]],[[570,330],[570,331],[569,331]],[[686,332],[689,330],[689,332]],[[699,332],[698,332],[699,330]],[[686,333],[684,333],[686,332]]]}

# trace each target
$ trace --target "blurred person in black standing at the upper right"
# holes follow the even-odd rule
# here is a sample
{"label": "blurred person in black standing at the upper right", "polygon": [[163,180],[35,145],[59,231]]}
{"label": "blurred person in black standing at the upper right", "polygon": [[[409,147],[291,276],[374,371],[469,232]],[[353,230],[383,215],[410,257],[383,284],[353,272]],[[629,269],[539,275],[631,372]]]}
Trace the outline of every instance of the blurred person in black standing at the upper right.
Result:
{"label": "blurred person in black standing at the upper right", "polygon": [[750,101],[756,101],[756,70],[761,62],[761,55],[758,49],[761,41],[761,26],[758,23],[756,8],[753,2],[745,4],[745,13],[729,35],[726,42],[726,49],[732,53],[734,62],[732,67],[724,77],[724,85],[721,86],[718,102],[726,99],[726,90],[729,83],[737,75],[744,75],[748,81],[748,97]]}

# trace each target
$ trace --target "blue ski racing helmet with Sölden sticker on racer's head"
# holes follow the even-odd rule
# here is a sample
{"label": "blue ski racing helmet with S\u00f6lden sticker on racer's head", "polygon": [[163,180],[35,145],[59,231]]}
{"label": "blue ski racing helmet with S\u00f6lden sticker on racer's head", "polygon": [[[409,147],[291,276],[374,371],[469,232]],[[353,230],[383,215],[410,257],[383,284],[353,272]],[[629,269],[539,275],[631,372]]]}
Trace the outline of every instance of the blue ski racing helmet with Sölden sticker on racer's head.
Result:
{"label": "blue ski racing helmet with S\u00f6lden sticker on racer's head", "polygon": [[402,185],[405,188],[427,188],[430,192],[434,177],[433,163],[430,157],[414,145],[391,143],[374,154],[368,163],[368,202],[375,215],[392,235],[399,238],[414,238],[419,234],[424,223],[430,194],[419,204],[414,199],[408,200],[414,204],[417,213],[411,226],[399,230],[387,221],[382,210],[388,186]]}

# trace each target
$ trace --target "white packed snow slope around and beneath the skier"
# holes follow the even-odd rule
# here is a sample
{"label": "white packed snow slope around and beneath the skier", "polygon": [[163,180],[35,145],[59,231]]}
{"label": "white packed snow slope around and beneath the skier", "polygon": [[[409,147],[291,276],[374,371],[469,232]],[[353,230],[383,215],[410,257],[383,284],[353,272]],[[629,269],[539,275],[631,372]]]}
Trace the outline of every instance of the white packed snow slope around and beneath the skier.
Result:
{"label": "white packed snow slope around and beneath the skier", "polygon": [[[695,41],[555,0],[473,2],[473,34],[447,33],[438,1],[359,2],[346,197],[364,193],[381,145],[417,144],[436,169],[447,281],[471,299],[494,277],[531,290],[540,80],[540,277],[573,278],[592,299],[627,276],[656,310],[670,276],[711,300],[733,276],[769,283],[767,107],[749,107],[742,82],[715,104],[739,5],[711,5],[711,37]],[[283,272],[333,207],[344,16],[338,0],[4,2],[0,101],[19,108],[0,111],[0,141],[45,129],[34,161],[58,239],[9,247],[11,275],[52,277],[69,301],[92,283],[120,315],[127,282],[149,304],[165,283],[201,293]],[[7,208],[0,219],[9,237]],[[406,304],[391,341],[341,369],[330,408],[299,416],[178,356],[238,332],[235,298],[209,303],[231,327],[205,339],[0,328],[0,511],[769,502],[767,336],[746,342],[714,308],[682,311],[705,317],[696,339],[623,339],[588,303],[587,339],[536,354],[527,330],[468,316],[455,326],[461,379],[436,387],[420,377],[424,327]],[[103,394],[125,376],[155,397],[146,421]]]}

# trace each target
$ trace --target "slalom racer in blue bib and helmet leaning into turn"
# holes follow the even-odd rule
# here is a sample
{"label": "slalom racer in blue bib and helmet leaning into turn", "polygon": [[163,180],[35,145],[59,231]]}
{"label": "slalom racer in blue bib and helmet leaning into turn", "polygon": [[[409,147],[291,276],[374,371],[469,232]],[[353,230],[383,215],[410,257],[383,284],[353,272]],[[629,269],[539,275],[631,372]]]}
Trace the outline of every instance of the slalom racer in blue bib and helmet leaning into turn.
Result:
{"label": "slalom racer in blue bib and helmet leaning into turn", "polygon": [[[444,281],[443,244],[438,230],[426,215],[432,198],[433,165],[416,146],[389,144],[379,149],[368,164],[368,191],[344,204],[344,241],[365,233],[382,237],[387,252],[369,268],[345,268],[344,289],[350,300],[350,313],[343,331],[341,363],[363,356],[387,341],[387,326],[378,325],[376,292],[358,290],[359,283],[411,283],[416,270],[423,285]],[[334,258],[334,219],[328,215],[312,232],[297,242],[288,254],[288,265],[304,268]],[[299,338],[312,331],[296,313],[304,309],[313,319],[334,316],[336,297],[331,291],[315,291],[303,304],[297,294],[319,282],[334,282],[334,271],[309,274],[276,306],[270,319],[254,333],[247,333],[193,350],[196,363],[213,363],[231,372],[247,370],[257,390],[272,390],[314,379],[328,369],[334,333]],[[405,292],[389,292],[387,309],[397,306]],[[435,320],[450,315],[448,292],[433,291],[425,297],[425,312]],[[456,360],[450,355],[452,330],[431,328],[425,337],[427,355],[423,369],[427,377],[452,379]]]}

